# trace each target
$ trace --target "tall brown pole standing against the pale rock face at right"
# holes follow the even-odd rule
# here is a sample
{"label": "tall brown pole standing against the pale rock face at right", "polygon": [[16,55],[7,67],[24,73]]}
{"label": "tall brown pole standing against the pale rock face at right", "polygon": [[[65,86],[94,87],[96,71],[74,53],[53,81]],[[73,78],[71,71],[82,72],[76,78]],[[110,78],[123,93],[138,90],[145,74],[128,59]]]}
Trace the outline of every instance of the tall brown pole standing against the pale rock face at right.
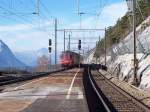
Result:
{"label": "tall brown pole standing against the pale rock face at right", "polygon": [[137,69],[138,69],[138,62],[136,57],[136,0],[132,0],[133,4],[133,38],[134,38],[134,78],[133,84],[137,86]]}

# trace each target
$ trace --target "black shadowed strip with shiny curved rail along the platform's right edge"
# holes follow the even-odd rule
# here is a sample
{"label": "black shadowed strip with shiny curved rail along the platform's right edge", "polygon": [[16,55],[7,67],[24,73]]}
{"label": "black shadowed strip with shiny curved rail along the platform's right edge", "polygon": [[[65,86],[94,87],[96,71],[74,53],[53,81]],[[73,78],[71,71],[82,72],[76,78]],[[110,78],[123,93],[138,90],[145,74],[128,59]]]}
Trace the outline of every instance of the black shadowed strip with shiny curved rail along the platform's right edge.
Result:
{"label": "black shadowed strip with shiny curved rail along the platform's right edge", "polygon": [[83,72],[83,85],[89,112],[110,112],[106,103],[101,99],[101,95],[95,87],[88,69],[84,69]]}

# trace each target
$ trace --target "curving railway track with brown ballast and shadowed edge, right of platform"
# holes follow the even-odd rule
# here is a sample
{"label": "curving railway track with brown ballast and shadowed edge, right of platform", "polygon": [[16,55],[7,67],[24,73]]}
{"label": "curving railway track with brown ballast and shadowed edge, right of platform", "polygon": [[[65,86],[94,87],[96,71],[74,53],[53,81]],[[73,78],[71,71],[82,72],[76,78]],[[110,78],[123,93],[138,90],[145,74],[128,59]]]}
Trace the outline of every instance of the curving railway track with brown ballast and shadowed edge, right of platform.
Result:
{"label": "curving railway track with brown ballast and shadowed edge, right of platform", "polygon": [[90,112],[150,112],[149,107],[114,85],[98,71],[85,69],[83,77]]}

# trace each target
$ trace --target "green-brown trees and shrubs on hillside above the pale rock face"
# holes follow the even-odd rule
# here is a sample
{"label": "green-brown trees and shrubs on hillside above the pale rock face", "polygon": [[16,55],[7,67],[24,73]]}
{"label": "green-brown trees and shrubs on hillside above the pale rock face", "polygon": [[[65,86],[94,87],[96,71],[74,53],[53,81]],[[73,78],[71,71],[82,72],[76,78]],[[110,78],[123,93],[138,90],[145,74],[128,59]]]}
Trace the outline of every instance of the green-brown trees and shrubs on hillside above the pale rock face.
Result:
{"label": "green-brown trees and shrubs on hillside above the pale rock face", "polygon": [[[150,0],[138,0],[139,6],[136,9],[136,26],[143,22],[143,19],[146,19],[150,16]],[[141,10],[139,10],[139,8]],[[143,17],[141,16],[141,13]],[[148,24],[144,24],[143,27],[147,27]],[[132,15],[127,12],[125,16],[118,19],[114,26],[110,26],[106,30],[106,42],[107,48],[110,48],[112,45],[119,43],[120,40],[124,39],[132,31]],[[99,57],[100,54],[104,53],[104,38],[101,39],[97,46],[95,57]]]}

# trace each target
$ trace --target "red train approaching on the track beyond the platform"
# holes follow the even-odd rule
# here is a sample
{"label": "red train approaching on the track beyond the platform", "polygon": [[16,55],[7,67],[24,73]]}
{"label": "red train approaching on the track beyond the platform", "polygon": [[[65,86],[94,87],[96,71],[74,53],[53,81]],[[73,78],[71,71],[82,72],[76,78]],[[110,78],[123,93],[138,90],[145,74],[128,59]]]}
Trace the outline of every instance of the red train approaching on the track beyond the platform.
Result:
{"label": "red train approaching on the track beyond the platform", "polygon": [[73,67],[80,64],[80,61],[82,60],[82,57],[75,52],[72,51],[65,51],[62,52],[60,56],[60,64],[63,67]]}

